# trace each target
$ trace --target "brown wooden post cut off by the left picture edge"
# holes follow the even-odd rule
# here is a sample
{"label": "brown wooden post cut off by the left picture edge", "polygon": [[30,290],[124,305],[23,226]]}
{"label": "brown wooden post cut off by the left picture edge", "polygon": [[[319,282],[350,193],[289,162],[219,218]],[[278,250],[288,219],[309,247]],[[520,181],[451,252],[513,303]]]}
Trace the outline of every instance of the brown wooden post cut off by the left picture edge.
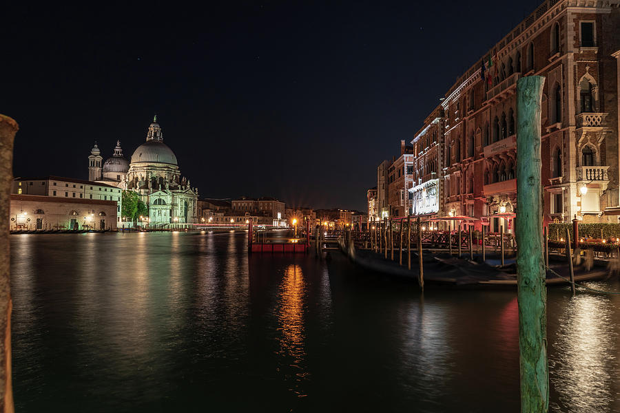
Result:
{"label": "brown wooden post cut off by the left picture edge", "polygon": [[9,211],[17,122],[0,115],[0,412],[12,413]]}

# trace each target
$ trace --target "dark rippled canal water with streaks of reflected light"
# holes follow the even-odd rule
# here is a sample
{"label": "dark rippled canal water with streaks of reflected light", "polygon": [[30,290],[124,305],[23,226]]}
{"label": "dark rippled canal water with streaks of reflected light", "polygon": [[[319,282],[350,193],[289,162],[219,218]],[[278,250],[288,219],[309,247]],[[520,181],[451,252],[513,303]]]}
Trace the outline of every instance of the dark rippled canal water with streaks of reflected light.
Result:
{"label": "dark rippled canal water with streaks of reflected light", "polygon": [[[17,412],[518,412],[516,291],[245,233],[12,235]],[[592,283],[620,290],[618,281]],[[620,297],[551,288],[552,412],[620,412]]]}

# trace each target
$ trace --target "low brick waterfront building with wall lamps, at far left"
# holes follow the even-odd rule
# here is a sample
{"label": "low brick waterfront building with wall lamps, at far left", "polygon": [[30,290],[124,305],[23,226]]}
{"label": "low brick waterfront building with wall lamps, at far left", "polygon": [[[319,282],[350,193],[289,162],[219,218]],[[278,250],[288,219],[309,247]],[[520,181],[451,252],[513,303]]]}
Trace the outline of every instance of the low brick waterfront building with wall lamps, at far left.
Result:
{"label": "low brick waterfront building with wall lamps, at far left", "polygon": [[116,202],[110,200],[11,194],[10,229],[116,230],[118,216],[116,208]]}

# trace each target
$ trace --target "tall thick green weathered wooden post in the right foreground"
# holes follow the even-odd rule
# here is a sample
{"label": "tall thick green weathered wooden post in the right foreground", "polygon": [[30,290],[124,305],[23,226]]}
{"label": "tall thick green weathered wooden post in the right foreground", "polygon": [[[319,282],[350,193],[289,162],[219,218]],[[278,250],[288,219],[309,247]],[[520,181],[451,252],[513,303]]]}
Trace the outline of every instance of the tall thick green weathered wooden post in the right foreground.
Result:
{"label": "tall thick green weathered wooden post in the right foreground", "polygon": [[545,78],[517,81],[517,299],[521,412],[549,410],[547,292],[542,253],[541,96]]}

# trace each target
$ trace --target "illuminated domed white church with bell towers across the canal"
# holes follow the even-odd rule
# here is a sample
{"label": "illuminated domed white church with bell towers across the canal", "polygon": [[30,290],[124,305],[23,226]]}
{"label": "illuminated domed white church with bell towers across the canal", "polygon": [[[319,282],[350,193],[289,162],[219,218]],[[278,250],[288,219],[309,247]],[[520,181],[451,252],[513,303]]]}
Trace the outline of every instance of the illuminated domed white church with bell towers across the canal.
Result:
{"label": "illuminated domed white church with bell towers across the canal", "polygon": [[150,226],[196,222],[198,190],[181,177],[172,149],[163,142],[157,116],[149,126],[146,142],[138,146],[131,161],[123,156],[121,142],[101,167],[100,149],[95,144],[89,158],[89,179],[113,184],[141,195],[149,207]]}

